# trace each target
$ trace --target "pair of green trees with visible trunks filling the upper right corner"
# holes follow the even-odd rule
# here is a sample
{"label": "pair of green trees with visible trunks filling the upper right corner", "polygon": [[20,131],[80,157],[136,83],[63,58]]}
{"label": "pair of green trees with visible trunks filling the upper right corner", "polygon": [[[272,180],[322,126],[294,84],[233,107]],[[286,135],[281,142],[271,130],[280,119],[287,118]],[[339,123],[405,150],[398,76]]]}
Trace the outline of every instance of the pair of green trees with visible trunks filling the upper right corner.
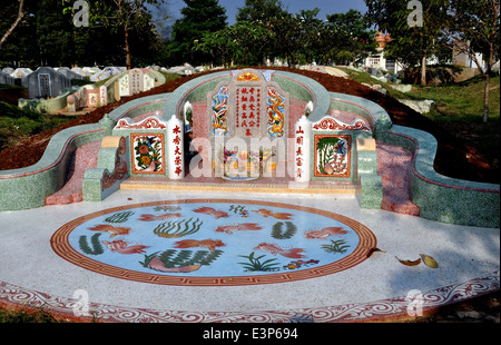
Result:
{"label": "pair of green trees with visible trunks filling the upper right corner", "polygon": [[[421,65],[421,83],[426,85],[425,61],[451,51],[468,55],[485,80],[483,121],[489,119],[489,90],[492,66],[499,60],[499,0],[421,0],[422,26],[411,27],[406,0],[365,0],[369,18],[387,30],[392,42],[387,52],[407,66]],[[445,50],[443,48],[448,48]],[[478,53],[482,53],[480,61]],[[419,61],[421,60],[421,61]],[[485,67],[482,68],[482,62]]]}

